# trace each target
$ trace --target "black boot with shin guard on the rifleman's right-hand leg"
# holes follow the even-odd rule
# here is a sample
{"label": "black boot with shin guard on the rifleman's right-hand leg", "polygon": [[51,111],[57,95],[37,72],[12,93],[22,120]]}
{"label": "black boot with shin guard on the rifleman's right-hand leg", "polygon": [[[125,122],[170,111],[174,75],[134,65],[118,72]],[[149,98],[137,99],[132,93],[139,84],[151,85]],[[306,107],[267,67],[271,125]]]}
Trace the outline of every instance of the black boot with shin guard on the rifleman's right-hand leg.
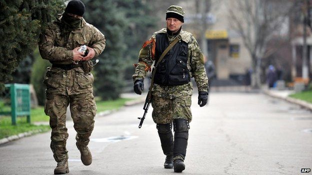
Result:
{"label": "black boot with shin guard on the rifleman's right-hand leg", "polygon": [[180,173],[185,170],[183,163],[186,155],[188,140],[188,121],[184,119],[175,119],[173,121],[174,147],[173,147],[173,170]]}

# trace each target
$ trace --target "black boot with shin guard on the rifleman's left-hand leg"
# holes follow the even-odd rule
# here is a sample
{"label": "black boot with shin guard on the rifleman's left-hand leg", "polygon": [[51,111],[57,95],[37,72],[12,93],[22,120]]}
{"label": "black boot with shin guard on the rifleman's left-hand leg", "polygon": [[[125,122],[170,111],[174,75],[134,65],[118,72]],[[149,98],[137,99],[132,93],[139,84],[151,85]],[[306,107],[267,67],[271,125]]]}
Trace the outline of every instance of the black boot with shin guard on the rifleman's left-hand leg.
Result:
{"label": "black boot with shin guard on the rifleman's left-hand leg", "polygon": [[166,155],[163,167],[173,169],[173,135],[171,132],[172,124],[157,124],[158,135],[160,138],[161,148]]}

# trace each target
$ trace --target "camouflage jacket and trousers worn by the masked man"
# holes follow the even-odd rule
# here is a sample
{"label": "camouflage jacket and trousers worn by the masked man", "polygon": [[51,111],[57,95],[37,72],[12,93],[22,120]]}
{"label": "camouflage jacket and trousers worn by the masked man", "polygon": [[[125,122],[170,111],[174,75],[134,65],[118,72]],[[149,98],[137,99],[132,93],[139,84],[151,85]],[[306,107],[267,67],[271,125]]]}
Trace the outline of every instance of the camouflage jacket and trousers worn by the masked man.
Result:
{"label": "camouflage jacket and trousers worn by the masked man", "polygon": [[[87,45],[94,49],[98,56],[105,47],[104,35],[82,18],[81,27],[63,31],[58,19],[40,35],[39,51],[43,59],[52,64],[72,64],[72,49]],[[64,33],[67,32],[67,33]],[[92,95],[94,77],[84,72],[81,67],[63,70],[48,67],[43,83],[46,86],[44,112],[50,117],[51,150],[56,162],[67,160],[66,140],[68,138],[66,109],[70,103],[70,113],[76,130],[78,145],[86,146],[94,127],[96,114],[95,100]]]}

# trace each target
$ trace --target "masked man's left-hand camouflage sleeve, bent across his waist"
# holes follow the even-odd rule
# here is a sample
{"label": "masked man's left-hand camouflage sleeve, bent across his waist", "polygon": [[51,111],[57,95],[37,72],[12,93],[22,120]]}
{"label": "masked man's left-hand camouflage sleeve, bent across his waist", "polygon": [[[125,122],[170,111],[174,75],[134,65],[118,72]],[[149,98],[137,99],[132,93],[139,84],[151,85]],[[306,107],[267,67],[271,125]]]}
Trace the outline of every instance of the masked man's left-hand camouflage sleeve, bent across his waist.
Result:
{"label": "masked man's left-hand camouflage sleeve, bent across his waist", "polygon": [[47,28],[39,37],[39,52],[43,59],[49,61],[65,61],[73,58],[72,50],[54,46],[54,30]]}

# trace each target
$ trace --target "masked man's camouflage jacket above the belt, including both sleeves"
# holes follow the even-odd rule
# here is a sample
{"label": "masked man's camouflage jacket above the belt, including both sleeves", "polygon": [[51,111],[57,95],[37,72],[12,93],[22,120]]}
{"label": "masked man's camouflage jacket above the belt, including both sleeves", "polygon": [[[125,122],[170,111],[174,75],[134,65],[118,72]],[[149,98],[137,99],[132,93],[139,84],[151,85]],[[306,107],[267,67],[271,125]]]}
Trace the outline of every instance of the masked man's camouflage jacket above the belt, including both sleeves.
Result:
{"label": "masked man's camouflage jacket above the belt, including both sleeves", "polygon": [[97,28],[85,22],[83,18],[81,28],[72,30],[69,36],[65,35],[61,31],[61,21],[58,18],[40,35],[38,44],[43,59],[49,60],[52,64],[71,64],[73,62],[72,49],[87,45],[94,49],[94,57],[96,57],[105,48],[105,37]]}

